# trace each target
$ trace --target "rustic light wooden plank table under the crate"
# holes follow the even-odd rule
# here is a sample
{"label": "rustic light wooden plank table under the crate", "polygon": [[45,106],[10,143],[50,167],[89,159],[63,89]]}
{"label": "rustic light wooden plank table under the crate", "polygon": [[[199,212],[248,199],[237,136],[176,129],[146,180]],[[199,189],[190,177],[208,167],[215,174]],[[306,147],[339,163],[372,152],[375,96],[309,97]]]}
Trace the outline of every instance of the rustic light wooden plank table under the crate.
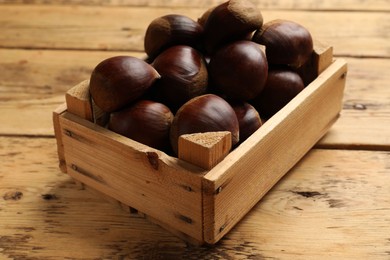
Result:
{"label": "rustic light wooden plank table under the crate", "polygon": [[[50,3],[47,3],[50,2]],[[148,23],[221,2],[0,0],[0,259],[390,259],[390,3],[257,0],[349,71],[340,119],[217,245],[189,246],[58,168],[52,111]]]}

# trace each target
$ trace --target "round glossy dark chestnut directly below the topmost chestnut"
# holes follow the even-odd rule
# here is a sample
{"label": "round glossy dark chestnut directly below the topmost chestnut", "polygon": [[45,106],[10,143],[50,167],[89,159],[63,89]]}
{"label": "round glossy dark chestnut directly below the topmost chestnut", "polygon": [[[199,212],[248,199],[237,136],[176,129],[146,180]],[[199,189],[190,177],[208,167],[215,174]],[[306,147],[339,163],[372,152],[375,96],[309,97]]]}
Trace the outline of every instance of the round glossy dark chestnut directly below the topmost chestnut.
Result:
{"label": "round glossy dark chestnut directly below the topmost chestnut", "polygon": [[219,49],[210,60],[214,87],[229,99],[246,101],[264,88],[268,63],[264,52],[252,41],[236,41]]}

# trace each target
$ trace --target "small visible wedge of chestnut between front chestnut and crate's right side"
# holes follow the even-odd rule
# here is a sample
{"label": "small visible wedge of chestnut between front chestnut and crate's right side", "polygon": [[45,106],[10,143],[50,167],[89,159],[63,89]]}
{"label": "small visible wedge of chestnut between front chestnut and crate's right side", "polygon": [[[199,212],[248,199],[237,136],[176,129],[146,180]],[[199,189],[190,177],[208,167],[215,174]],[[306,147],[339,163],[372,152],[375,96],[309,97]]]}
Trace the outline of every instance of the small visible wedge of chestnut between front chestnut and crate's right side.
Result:
{"label": "small visible wedge of chestnut between front chestnut and crate's right side", "polygon": [[248,102],[233,102],[231,106],[238,119],[240,143],[242,143],[261,127],[262,120],[257,110]]}

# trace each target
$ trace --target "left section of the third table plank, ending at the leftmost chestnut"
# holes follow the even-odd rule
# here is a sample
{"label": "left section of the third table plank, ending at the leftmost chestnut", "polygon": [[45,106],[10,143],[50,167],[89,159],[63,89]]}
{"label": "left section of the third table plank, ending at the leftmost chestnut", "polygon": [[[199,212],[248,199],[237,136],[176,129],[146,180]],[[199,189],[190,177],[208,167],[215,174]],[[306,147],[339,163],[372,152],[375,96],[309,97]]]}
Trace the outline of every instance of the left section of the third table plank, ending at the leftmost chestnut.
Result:
{"label": "left section of the third table plank, ending at the leftmost chestnut", "polygon": [[0,134],[52,136],[51,113],[66,91],[89,79],[100,61],[120,54],[0,49]]}

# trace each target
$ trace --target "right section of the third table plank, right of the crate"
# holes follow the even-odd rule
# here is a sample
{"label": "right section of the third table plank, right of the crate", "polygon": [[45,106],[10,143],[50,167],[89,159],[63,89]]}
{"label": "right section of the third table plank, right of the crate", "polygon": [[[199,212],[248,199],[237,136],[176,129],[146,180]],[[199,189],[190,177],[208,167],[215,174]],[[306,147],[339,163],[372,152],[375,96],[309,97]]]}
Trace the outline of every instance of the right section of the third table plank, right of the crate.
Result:
{"label": "right section of the third table plank, right of the crate", "polygon": [[318,147],[390,149],[389,60],[347,58],[343,111]]}

